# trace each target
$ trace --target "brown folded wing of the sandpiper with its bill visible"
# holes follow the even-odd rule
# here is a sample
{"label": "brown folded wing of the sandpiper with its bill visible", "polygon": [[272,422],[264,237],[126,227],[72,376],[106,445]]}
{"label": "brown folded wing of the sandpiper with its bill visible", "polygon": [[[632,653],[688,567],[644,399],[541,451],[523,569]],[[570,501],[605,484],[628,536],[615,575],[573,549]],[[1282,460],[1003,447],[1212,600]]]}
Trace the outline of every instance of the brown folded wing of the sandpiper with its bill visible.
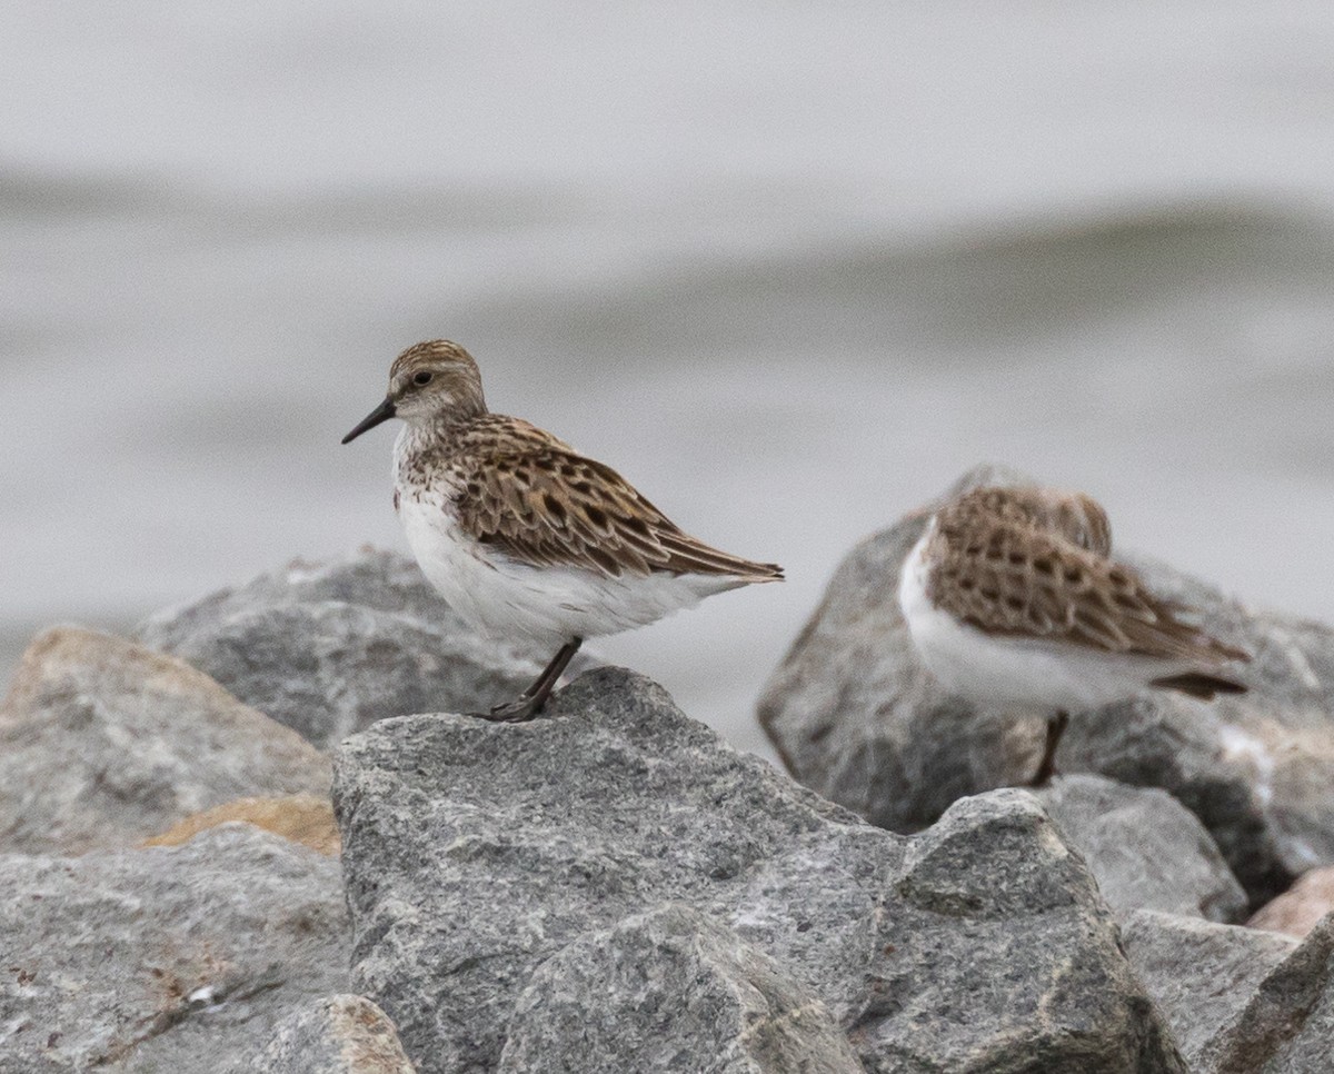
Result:
{"label": "brown folded wing of the sandpiper with its bill visible", "polygon": [[772,563],[720,552],[682,532],[610,466],[550,434],[507,419],[486,454],[462,460],[459,522],[478,540],[535,567],[582,567],[608,576],[783,576]]}

